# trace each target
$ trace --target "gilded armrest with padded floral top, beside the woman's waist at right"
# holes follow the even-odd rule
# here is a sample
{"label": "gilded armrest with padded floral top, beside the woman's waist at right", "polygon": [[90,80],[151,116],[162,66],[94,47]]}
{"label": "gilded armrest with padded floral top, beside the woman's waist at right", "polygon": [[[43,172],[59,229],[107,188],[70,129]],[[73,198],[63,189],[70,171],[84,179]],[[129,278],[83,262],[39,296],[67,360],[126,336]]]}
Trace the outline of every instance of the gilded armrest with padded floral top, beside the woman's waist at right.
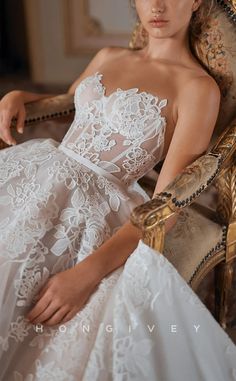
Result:
{"label": "gilded armrest with padded floral top, beside the woman's waist at right", "polygon": [[187,166],[152,200],[137,206],[131,222],[142,231],[153,229],[180,209],[191,205],[212,183],[222,163],[220,154],[207,153]]}

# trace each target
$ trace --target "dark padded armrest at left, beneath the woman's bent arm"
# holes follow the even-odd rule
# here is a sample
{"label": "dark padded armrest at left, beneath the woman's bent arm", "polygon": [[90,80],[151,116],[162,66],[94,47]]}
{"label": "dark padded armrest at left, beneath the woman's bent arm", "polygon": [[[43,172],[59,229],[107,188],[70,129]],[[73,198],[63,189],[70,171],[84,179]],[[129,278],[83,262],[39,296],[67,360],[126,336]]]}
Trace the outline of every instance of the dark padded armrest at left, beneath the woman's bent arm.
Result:
{"label": "dark padded armrest at left, beneath the woman's bent arm", "polygon": [[[62,94],[51,98],[44,98],[38,101],[29,102],[25,105],[26,119],[25,125],[32,125],[38,122],[60,118],[70,115],[75,111],[74,95]],[[12,120],[12,127],[16,126],[16,119]]]}

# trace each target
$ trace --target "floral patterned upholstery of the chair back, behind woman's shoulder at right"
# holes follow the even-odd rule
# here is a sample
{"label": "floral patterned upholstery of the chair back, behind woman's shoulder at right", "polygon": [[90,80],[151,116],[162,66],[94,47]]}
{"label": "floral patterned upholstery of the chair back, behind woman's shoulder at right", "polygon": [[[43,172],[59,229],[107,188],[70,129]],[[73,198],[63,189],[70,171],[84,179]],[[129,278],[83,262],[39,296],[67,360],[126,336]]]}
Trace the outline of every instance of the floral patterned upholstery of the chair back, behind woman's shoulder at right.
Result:
{"label": "floral patterned upholstery of the chair back, behind woman's shoulder at right", "polygon": [[236,116],[235,21],[229,19],[222,6],[215,6],[195,48],[221,89],[221,108],[215,129],[218,136]]}

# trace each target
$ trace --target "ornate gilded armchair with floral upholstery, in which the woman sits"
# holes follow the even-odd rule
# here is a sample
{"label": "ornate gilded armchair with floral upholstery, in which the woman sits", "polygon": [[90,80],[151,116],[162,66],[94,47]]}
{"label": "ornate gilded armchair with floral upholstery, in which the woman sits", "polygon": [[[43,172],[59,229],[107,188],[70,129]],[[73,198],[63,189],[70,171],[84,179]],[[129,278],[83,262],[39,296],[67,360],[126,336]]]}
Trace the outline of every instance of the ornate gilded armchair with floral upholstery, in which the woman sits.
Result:
{"label": "ornate gilded armchair with floral upholstery, in which the woman sits", "polygon": [[[163,252],[189,285],[197,290],[202,279],[215,268],[215,316],[226,327],[233,261],[236,258],[236,2],[217,0],[207,29],[194,49],[217,80],[222,94],[221,109],[207,153],[185,168],[154,199],[136,207],[131,221],[143,233],[143,240]],[[146,43],[137,26],[130,47]],[[73,96],[69,94],[26,105],[25,126],[55,119],[73,120]],[[15,127],[15,121],[12,121]],[[0,141],[0,149],[7,145]],[[140,184],[150,194],[155,180],[145,176]],[[198,202],[198,197],[215,186],[218,200],[214,209]],[[176,225],[165,233],[165,221],[179,213]],[[206,239],[207,238],[207,239]]]}

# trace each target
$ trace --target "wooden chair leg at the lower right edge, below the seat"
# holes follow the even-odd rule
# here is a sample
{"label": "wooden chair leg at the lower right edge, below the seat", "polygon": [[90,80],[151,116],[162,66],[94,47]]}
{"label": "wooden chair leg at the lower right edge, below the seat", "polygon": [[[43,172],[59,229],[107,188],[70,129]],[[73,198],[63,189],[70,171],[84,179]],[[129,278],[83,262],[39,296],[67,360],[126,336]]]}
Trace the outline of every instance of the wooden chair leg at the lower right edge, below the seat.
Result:
{"label": "wooden chair leg at the lower right edge, below the seat", "polygon": [[221,262],[215,267],[215,318],[225,329],[230,291],[233,287],[233,263]]}

